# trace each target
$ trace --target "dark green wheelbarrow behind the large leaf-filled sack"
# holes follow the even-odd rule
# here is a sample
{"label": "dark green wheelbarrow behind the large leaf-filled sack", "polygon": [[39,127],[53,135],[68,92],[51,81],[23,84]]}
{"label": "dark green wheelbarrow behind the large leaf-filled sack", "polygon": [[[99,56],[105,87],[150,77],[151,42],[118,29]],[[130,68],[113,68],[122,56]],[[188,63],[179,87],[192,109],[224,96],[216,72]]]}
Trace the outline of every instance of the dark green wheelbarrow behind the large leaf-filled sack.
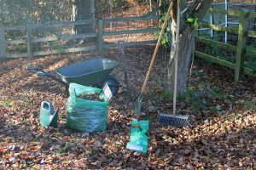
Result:
{"label": "dark green wheelbarrow behind the large leaf-filled sack", "polygon": [[117,61],[96,58],[63,66],[55,72],[44,71],[42,68],[32,66],[27,66],[26,69],[28,71],[38,71],[38,76],[46,76],[65,85],[67,96],[70,82],[96,88],[102,88],[104,84],[108,83],[112,94],[116,94],[120,84],[109,74],[119,65],[120,63]]}

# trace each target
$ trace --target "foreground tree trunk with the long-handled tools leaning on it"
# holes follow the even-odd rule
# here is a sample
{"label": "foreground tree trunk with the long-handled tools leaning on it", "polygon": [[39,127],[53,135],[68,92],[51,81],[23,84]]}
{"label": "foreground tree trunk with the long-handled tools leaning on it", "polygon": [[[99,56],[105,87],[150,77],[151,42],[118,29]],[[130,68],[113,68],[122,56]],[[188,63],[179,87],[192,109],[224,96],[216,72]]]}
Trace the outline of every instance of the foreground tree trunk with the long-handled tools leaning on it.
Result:
{"label": "foreground tree trunk with the long-handled tools leaning on it", "polygon": [[[181,10],[186,8],[186,1],[180,0]],[[183,94],[187,90],[189,73],[192,64],[192,55],[195,48],[195,28],[193,24],[186,23],[184,16],[193,16],[197,20],[202,20],[210,8],[212,0],[194,0],[189,4],[185,14],[180,20],[179,49],[177,51],[177,94]],[[177,25],[177,0],[172,1],[172,39],[176,37]],[[174,57],[176,56],[176,43],[172,41],[171,54],[167,68],[166,90],[173,92],[174,88]]]}

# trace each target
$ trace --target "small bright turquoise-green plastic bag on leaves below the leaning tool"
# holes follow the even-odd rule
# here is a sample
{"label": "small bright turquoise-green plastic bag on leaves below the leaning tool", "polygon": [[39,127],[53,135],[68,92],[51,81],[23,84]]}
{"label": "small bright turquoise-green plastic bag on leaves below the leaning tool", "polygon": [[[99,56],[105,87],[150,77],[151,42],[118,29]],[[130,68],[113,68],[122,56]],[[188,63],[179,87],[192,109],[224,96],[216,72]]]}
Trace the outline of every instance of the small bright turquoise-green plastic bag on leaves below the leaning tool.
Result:
{"label": "small bright turquoise-green plastic bag on leaves below the leaning tool", "polygon": [[147,153],[148,151],[148,121],[131,122],[131,134],[130,142],[126,144],[126,148],[129,150],[139,151]]}

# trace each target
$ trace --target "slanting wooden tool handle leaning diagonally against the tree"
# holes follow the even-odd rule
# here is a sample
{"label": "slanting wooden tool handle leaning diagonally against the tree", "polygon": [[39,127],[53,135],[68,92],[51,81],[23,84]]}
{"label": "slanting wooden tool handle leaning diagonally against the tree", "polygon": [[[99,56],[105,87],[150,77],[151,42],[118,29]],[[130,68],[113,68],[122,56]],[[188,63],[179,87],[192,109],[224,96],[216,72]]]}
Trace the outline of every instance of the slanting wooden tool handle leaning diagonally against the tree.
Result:
{"label": "slanting wooden tool handle leaning diagonally against the tree", "polygon": [[160,31],[160,36],[158,37],[158,41],[157,41],[157,43],[156,43],[156,47],[154,48],[154,54],[153,54],[153,56],[152,56],[150,65],[149,65],[149,67],[148,67],[148,72],[147,72],[146,78],[145,78],[145,80],[144,80],[144,82],[143,82],[143,88],[142,88],[142,90],[141,90],[141,94],[144,94],[144,92],[146,91],[148,79],[149,79],[150,73],[151,73],[151,71],[152,71],[152,69],[153,69],[154,61],[155,61],[155,59],[156,59],[156,54],[157,54],[157,52],[158,52],[158,50],[159,50],[161,39],[162,39],[162,37],[163,37],[163,35],[164,35],[164,33],[165,33],[165,29],[166,29],[166,26],[167,26],[167,22],[168,22],[168,20],[169,20],[169,18],[170,18],[171,11],[172,11],[172,5],[170,4],[170,6],[169,6],[169,8],[168,8],[168,11],[167,11],[167,14],[166,14],[166,18],[165,18],[164,25],[163,25],[163,27],[162,27],[162,29],[161,29],[161,31]]}

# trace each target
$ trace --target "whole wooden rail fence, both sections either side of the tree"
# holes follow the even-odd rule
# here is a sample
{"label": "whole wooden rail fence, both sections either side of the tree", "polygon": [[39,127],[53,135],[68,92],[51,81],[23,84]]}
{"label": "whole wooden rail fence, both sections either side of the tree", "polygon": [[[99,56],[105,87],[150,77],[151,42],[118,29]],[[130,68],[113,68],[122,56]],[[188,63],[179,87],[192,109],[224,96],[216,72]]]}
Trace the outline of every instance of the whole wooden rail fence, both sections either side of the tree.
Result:
{"label": "whole wooden rail fence, both sections either side of the tree", "polygon": [[[218,48],[223,48],[225,50],[232,50],[236,53],[236,62],[229,61],[228,59],[223,59],[218,56],[213,56],[199,50],[195,51],[195,56],[206,59],[212,63],[218,65],[223,65],[229,67],[230,69],[235,70],[235,80],[239,81],[241,78],[241,73],[247,75],[256,76],[255,70],[252,68],[246,67],[244,61],[246,60],[246,54],[253,54],[256,56],[256,50],[253,48],[247,48],[247,37],[256,38],[256,31],[247,30],[248,20],[256,18],[256,13],[249,13],[242,10],[222,10],[217,8],[210,9],[210,12],[216,14],[229,14],[230,16],[237,17],[239,19],[239,27],[224,27],[208,24],[201,22],[201,27],[207,27],[214,31],[227,31],[233,34],[238,35],[238,42],[235,45],[231,45],[224,42],[218,42],[206,37],[196,37],[197,42],[202,42],[210,46],[215,46]],[[104,48],[116,48],[117,43],[105,43],[104,37],[125,35],[125,34],[139,34],[139,33],[154,33],[154,31],[159,31],[159,27],[148,27],[140,28],[133,30],[121,30],[121,31],[108,31],[105,26],[110,22],[130,22],[130,21],[151,21],[158,20],[159,16],[155,14],[146,14],[140,17],[127,17],[127,18],[112,18],[106,20],[79,20],[79,21],[65,21],[58,23],[49,23],[49,24],[36,24],[28,26],[16,26],[16,27],[0,27],[0,59],[1,58],[17,58],[17,57],[30,57],[41,56],[48,54],[62,54],[62,53],[71,53],[71,52],[84,52],[84,51],[96,51],[98,54],[103,54]],[[61,26],[80,26],[80,25],[96,25],[96,32],[90,34],[73,34],[73,35],[60,35],[60,36],[46,36],[46,37],[33,37],[32,33],[45,28],[55,28]],[[7,31],[25,31],[25,39],[7,39]],[[38,42],[56,42],[61,40],[76,40],[84,38],[95,38],[96,43],[86,47],[75,47],[75,48],[61,48],[53,50],[39,50],[34,51],[34,45]],[[125,47],[137,46],[147,43],[154,43],[154,38],[150,41],[138,41],[138,42],[125,42],[123,45]],[[7,53],[7,48],[9,45],[20,45],[25,44],[26,53],[12,54]]]}

